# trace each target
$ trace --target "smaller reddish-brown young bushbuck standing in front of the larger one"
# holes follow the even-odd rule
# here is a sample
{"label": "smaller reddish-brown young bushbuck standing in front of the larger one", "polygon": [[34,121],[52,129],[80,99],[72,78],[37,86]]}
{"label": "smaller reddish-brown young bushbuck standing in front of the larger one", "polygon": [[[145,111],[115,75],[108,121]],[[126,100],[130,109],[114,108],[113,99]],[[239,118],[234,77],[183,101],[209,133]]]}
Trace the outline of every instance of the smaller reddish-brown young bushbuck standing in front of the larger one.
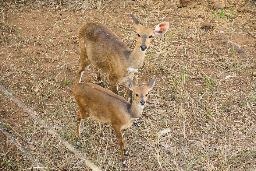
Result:
{"label": "smaller reddish-brown young bushbuck standing in front of the larger one", "polygon": [[116,132],[120,146],[123,166],[126,166],[124,155],[129,155],[125,147],[124,129],[132,125],[133,121],[141,117],[146,104],[148,92],[153,89],[155,79],[144,87],[135,85],[127,75],[128,88],[134,93],[135,100],[131,104],[123,97],[104,89],[93,83],[78,83],[73,90],[73,98],[77,103],[77,133],[76,144],[79,145],[81,119],[91,117],[98,121],[101,139],[104,140],[104,133],[100,122],[110,123]]}

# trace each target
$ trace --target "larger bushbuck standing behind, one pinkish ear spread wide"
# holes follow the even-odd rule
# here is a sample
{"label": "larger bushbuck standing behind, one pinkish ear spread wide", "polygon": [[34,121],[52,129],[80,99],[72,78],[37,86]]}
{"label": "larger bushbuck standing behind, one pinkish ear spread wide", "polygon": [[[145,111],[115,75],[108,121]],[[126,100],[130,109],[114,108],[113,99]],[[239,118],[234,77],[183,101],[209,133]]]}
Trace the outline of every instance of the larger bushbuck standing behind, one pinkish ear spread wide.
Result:
{"label": "larger bushbuck standing behind, one pinkish ear spread wide", "polygon": [[[155,35],[163,35],[169,29],[169,23],[163,22],[154,29],[140,24],[135,14],[131,14],[137,30],[137,44],[133,50],[101,23],[84,24],[78,31],[81,50],[81,62],[78,71],[78,83],[81,82],[85,68],[92,63],[97,68],[97,79],[101,83],[99,69],[109,75],[112,92],[118,95],[118,86],[126,82],[126,75],[133,79],[143,63],[150,41]],[[131,103],[132,92],[125,84],[126,100]]]}

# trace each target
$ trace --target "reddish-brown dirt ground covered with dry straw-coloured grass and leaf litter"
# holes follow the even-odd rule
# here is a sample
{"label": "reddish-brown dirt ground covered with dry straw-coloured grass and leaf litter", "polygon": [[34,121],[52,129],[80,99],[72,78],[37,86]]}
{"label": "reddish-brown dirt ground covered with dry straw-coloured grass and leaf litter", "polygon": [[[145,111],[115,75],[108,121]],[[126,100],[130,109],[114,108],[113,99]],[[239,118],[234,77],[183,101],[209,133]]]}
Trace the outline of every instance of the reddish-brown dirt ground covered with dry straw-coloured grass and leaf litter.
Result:
{"label": "reddish-brown dirt ground covered with dry straw-coloured grass and leaf litter", "polygon": [[[0,4],[0,86],[100,169],[256,169],[255,1],[0,0]],[[220,7],[224,15],[218,13]],[[104,23],[133,48],[136,31],[131,12],[144,26],[168,21],[170,28],[153,38],[134,78],[141,86],[158,76],[138,120],[141,127],[125,131],[130,156],[124,168],[108,124],[103,125],[106,138],[101,141],[97,122],[84,120],[81,144],[76,146],[72,90],[80,61],[80,26]],[[110,89],[108,75],[101,75],[103,87]],[[91,65],[82,82],[96,81]],[[124,97],[123,87],[119,90]],[[4,92],[0,94],[1,127],[34,156],[42,166],[39,170],[91,170]],[[159,135],[164,129],[169,132]],[[0,140],[0,170],[37,170],[2,133]]]}

